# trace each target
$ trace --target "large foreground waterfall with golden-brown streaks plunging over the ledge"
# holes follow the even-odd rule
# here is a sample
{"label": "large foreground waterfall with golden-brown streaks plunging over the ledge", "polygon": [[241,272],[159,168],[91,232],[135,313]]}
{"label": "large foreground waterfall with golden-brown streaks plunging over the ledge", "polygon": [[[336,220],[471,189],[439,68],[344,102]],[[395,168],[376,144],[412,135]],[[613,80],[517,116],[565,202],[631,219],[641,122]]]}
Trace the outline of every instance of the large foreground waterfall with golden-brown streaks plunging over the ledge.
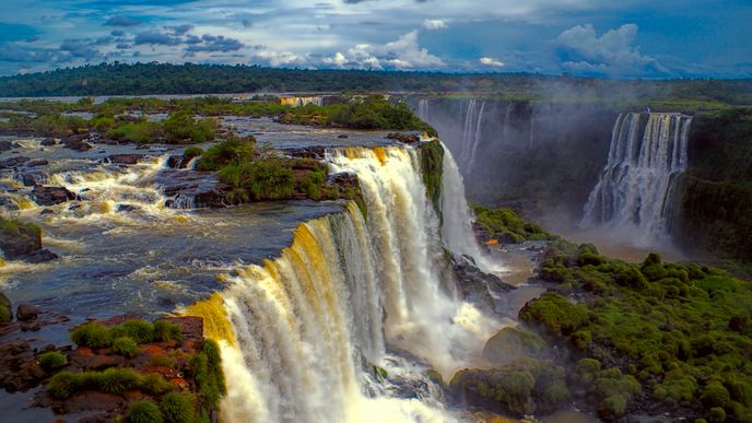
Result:
{"label": "large foreground waterfall with golden-brown streaks plunging over the ledge", "polygon": [[[302,224],[278,259],[234,269],[221,294],[223,306],[199,310],[210,326],[228,320],[224,325],[232,327],[208,331],[222,333],[215,338],[227,375],[226,421],[454,420],[431,389],[404,398],[391,393],[389,380],[371,374],[377,365],[389,375],[433,386],[422,376],[426,367],[406,357],[450,377],[475,363],[498,329],[472,305],[454,298],[442,233],[453,238],[449,250],[479,249],[456,238],[471,236],[467,209],[462,215],[447,196],[440,227],[419,154],[403,146],[329,150],[334,172],[357,175],[367,216],[351,202],[341,213]],[[455,173],[454,166],[444,175]],[[458,175],[445,181],[453,196],[463,192],[446,185],[458,181]]]}

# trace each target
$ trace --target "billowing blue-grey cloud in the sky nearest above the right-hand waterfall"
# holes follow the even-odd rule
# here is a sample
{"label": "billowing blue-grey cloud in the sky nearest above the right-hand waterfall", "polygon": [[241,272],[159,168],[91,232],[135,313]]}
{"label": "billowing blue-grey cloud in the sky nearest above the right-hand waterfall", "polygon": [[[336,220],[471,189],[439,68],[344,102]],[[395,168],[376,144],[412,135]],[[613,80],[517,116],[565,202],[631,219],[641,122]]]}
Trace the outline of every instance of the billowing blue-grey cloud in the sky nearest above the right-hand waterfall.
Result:
{"label": "billowing blue-grey cloud in the sky nearest above the right-hand waterfall", "polygon": [[564,69],[589,74],[639,75],[667,73],[656,59],[633,47],[638,27],[625,24],[600,37],[592,25],[577,25],[556,37],[556,52]]}

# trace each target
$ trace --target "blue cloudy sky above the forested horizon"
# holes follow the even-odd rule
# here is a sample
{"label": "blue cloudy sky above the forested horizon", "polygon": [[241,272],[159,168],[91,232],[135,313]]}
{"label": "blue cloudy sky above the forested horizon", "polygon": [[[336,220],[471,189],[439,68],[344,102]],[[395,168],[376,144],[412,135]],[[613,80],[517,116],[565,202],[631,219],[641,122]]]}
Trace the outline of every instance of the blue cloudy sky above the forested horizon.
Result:
{"label": "blue cloudy sky above the forested horizon", "polygon": [[752,78],[752,0],[2,0],[0,75],[85,63]]}

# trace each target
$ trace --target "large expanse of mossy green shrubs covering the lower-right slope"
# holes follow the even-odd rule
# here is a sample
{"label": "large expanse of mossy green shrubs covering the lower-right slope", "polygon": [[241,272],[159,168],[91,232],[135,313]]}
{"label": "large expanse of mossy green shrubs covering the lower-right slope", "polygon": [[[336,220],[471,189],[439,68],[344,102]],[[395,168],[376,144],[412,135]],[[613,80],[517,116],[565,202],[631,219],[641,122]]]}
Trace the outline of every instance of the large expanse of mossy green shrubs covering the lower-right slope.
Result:
{"label": "large expanse of mossy green shrubs covering the lower-right slope", "polygon": [[573,383],[598,398],[601,418],[628,412],[639,396],[692,418],[752,421],[749,282],[656,254],[626,263],[562,240],[547,257],[541,278],[581,299],[549,292],[519,316],[585,357]]}

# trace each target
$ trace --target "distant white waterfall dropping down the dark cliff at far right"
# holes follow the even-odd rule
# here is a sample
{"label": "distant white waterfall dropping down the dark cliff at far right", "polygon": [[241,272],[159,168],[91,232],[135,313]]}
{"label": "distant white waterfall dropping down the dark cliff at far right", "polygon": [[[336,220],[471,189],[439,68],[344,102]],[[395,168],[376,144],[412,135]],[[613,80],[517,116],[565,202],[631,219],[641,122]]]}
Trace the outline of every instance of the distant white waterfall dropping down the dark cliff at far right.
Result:
{"label": "distant white waterfall dropping down the dark cliff at far right", "polygon": [[636,230],[642,244],[666,236],[677,177],[688,165],[691,122],[681,114],[619,115],[580,225]]}

